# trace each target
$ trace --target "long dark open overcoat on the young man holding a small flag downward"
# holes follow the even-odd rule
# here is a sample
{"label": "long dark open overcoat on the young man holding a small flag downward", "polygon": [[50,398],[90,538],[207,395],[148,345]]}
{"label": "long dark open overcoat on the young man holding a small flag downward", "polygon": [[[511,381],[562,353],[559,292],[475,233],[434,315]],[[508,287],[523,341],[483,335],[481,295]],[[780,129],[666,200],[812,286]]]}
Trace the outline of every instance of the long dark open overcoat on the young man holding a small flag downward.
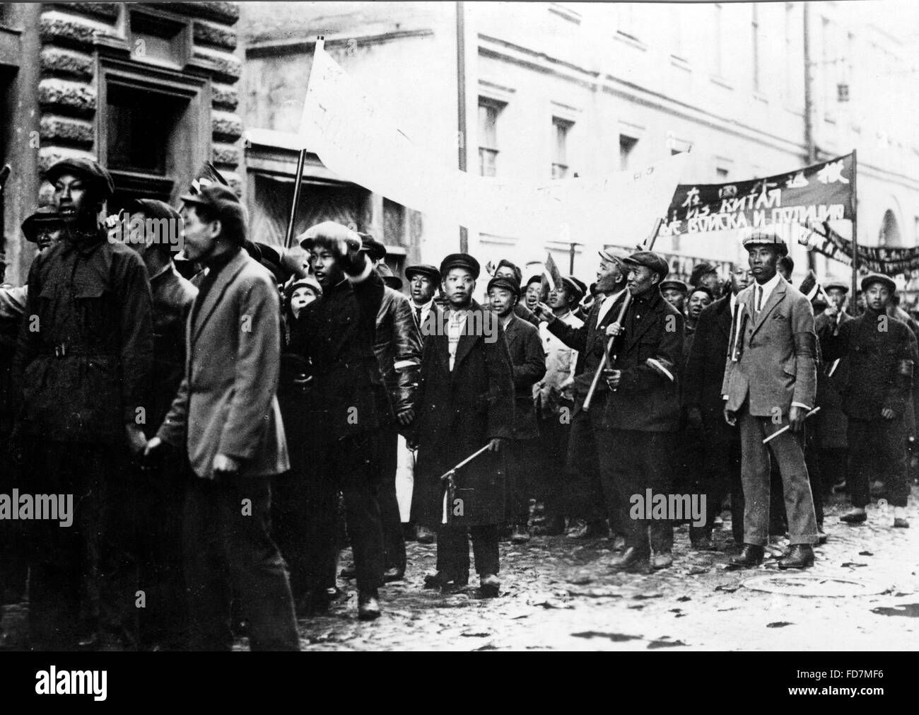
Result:
{"label": "long dark open overcoat on the young man holding a small flag downward", "polygon": [[[440,476],[496,437],[510,439],[514,427],[514,383],[504,330],[497,316],[472,301],[466,330],[450,369],[448,335],[429,323],[446,323],[431,311],[422,327],[425,349],[415,410],[412,516],[437,528],[443,520],[446,485]],[[453,523],[500,524],[505,516],[502,457],[485,452],[456,472]]]}

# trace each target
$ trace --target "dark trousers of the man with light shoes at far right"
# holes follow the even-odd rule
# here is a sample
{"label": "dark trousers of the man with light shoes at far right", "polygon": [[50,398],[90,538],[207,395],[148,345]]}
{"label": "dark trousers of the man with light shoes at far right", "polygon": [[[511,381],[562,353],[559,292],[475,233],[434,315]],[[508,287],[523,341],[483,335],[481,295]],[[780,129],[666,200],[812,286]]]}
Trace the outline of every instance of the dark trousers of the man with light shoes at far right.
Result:
{"label": "dark trousers of the man with light shoes at far right", "polygon": [[872,477],[881,478],[892,506],[905,506],[910,495],[906,477],[906,432],[901,417],[859,420],[849,417],[849,497],[853,506],[868,505]]}

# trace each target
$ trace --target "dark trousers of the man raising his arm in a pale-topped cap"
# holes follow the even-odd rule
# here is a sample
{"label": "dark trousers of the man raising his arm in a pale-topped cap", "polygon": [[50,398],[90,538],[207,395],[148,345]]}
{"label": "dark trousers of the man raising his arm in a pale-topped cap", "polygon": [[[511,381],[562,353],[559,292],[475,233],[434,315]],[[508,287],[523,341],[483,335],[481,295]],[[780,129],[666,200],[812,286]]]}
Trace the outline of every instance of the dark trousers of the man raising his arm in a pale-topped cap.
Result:
{"label": "dark trousers of the man raising his arm in a pale-topped cap", "polygon": [[345,502],[347,534],[354,550],[357,588],[383,582],[383,529],[380,517],[380,444],[375,432],[315,446],[316,475],[309,480],[304,518],[308,524],[307,582],[320,591],[335,584],[338,559],[338,493]]}

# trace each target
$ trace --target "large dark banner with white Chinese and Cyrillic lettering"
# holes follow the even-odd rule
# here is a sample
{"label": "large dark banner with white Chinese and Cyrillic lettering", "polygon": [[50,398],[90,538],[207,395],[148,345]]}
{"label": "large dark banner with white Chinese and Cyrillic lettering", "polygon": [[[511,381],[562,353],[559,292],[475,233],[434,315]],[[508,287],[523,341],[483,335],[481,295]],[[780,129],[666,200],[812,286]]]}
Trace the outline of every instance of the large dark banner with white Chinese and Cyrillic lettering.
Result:
{"label": "large dark banner with white Chinese and Cyrillic lettering", "polygon": [[727,184],[680,184],[660,234],[851,220],[854,170],[852,154],[846,154],[766,178]]}

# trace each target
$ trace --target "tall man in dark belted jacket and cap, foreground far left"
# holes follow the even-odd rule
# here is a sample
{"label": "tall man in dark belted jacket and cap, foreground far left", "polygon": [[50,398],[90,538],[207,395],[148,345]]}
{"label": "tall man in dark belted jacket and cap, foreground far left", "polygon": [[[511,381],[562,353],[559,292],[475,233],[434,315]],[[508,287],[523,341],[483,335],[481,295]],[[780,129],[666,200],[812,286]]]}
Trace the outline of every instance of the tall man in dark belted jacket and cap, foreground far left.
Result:
{"label": "tall man in dark belted jacket and cap, foreground far left", "polygon": [[75,513],[72,528],[30,525],[29,637],[37,650],[81,640],[130,648],[137,573],[124,470],[146,442],[151,409],[150,281],[141,257],[109,243],[100,225],[113,192],[104,168],[65,159],[45,177],[66,230],[28,273],[14,361],[18,430],[28,489],[73,494]]}

